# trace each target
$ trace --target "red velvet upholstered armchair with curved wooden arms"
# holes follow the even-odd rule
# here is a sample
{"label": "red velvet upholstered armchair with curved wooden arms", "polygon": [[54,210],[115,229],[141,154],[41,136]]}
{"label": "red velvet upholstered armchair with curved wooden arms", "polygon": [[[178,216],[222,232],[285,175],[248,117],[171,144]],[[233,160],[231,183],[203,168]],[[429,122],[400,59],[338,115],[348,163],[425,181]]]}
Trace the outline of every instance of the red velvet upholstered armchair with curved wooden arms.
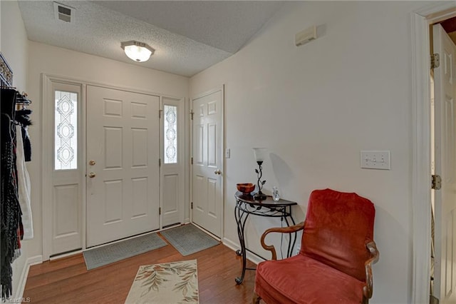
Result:
{"label": "red velvet upholstered armchair with curved wooden arms", "polygon": [[[373,241],[375,208],[356,193],[331,189],[311,193],[306,221],[271,228],[261,245],[272,260],[259,263],[253,303],[368,303],[372,297],[372,264],[378,260]],[[298,255],[276,260],[268,233],[303,230]]]}

